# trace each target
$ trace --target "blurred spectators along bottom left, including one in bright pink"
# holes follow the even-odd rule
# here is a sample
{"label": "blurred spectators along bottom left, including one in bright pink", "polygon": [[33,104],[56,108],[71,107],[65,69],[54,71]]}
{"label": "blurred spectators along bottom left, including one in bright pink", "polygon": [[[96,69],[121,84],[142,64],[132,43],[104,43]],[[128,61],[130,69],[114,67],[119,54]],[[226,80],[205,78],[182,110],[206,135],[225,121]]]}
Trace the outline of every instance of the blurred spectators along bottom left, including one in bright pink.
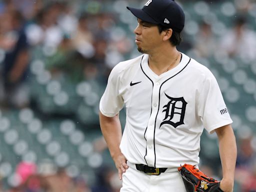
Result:
{"label": "blurred spectators along bottom left, including one in bright pink", "polygon": [[[43,168],[43,170],[42,170]],[[121,182],[116,172],[108,166],[95,170],[96,183],[89,185],[84,176],[72,177],[65,168],[55,169],[50,164],[38,167],[32,162],[20,162],[16,166],[12,187],[0,191],[8,192],[117,192]],[[19,184],[17,184],[19,183]]]}

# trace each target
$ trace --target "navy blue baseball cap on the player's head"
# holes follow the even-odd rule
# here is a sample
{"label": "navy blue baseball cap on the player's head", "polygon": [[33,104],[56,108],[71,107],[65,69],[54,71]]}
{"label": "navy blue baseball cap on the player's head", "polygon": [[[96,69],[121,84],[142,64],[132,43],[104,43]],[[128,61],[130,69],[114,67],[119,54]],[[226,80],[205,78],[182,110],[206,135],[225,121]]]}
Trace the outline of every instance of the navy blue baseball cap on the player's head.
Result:
{"label": "navy blue baseball cap on the player's head", "polygon": [[184,27],[185,14],[174,0],[148,0],[141,9],[126,8],[146,22],[161,24],[177,32]]}

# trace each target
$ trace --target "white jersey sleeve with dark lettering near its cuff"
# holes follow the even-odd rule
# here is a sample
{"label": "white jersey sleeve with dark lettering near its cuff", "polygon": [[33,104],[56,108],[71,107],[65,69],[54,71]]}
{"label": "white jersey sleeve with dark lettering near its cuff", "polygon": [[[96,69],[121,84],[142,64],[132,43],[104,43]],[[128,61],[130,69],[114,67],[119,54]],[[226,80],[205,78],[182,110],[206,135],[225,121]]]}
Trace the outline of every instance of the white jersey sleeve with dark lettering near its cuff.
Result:
{"label": "white jersey sleeve with dark lettering near its cuff", "polygon": [[211,133],[214,129],[232,123],[218,83],[213,74],[205,74],[198,98],[198,112],[204,128]]}

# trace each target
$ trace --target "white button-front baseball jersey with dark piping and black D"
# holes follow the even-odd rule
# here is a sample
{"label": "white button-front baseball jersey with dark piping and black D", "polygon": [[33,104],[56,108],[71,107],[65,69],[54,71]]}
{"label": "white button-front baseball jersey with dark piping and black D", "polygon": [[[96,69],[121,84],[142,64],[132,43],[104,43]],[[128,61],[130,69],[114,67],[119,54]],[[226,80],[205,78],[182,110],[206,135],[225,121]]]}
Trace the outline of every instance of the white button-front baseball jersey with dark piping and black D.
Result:
{"label": "white button-front baseball jersey with dark piping and black D", "polygon": [[159,76],[143,54],[118,63],[108,77],[99,108],[111,117],[125,104],[120,149],[131,163],[197,165],[203,127],[211,132],[232,122],[213,74],[181,56],[176,67]]}

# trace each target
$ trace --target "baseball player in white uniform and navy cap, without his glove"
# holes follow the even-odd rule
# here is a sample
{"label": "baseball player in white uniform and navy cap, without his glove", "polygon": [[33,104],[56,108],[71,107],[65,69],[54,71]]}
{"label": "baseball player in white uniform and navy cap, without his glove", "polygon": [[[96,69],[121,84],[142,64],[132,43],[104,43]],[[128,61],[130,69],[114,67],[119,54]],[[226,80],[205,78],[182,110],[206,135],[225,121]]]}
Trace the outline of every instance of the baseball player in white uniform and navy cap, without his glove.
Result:
{"label": "baseball player in white uniform and navy cap, without his glove", "polygon": [[[120,191],[186,191],[177,167],[198,165],[203,128],[218,136],[220,188],[232,191],[232,120],[213,74],[176,49],[183,10],[174,0],[127,8],[137,17],[135,43],[142,54],[112,69],[99,105],[101,131],[122,179]],[[122,134],[118,112],[124,105]]]}

